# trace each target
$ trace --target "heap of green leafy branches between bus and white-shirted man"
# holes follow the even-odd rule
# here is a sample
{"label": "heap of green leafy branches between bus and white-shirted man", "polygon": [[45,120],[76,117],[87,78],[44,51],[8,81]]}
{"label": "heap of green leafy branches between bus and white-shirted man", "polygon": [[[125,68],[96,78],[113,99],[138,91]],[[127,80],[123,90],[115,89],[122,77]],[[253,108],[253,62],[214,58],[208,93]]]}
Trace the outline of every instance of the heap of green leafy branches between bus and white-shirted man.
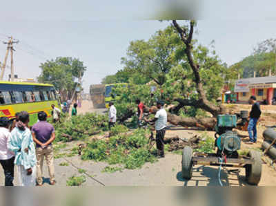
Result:
{"label": "heap of green leafy branches between bus and white-shirted man", "polygon": [[84,140],[90,134],[96,131],[108,130],[107,115],[99,115],[97,113],[86,113],[85,115],[77,115],[71,119],[62,119],[61,122],[54,124],[56,131],[55,142],[67,142],[68,138],[63,135],[70,135],[72,140]]}

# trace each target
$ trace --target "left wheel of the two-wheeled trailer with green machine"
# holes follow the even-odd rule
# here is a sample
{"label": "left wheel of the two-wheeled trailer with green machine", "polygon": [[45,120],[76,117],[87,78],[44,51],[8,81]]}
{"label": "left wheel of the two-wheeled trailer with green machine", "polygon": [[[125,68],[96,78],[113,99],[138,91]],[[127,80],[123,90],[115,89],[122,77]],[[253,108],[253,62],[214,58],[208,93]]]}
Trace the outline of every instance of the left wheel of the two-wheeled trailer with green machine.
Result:
{"label": "left wheel of the two-wheeled trailer with green machine", "polygon": [[182,178],[190,180],[193,176],[193,149],[184,147],[182,153]]}

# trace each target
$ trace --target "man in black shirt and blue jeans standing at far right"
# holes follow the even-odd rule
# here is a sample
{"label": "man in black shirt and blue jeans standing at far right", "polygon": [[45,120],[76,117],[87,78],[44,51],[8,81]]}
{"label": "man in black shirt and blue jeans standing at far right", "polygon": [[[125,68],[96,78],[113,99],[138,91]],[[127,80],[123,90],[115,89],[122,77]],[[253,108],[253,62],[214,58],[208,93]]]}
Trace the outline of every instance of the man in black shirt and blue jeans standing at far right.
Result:
{"label": "man in black shirt and blue jeans standing at far right", "polygon": [[[257,122],[259,120],[259,117],[262,114],[262,111],[259,107],[259,103],[256,101],[255,96],[251,96],[249,99],[249,104],[252,105],[252,109],[250,111],[250,120],[248,123],[248,133],[249,133],[249,139],[250,139],[250,144],[256,143],[257,142]],[[252,135],[253,131],[253,135]]]}

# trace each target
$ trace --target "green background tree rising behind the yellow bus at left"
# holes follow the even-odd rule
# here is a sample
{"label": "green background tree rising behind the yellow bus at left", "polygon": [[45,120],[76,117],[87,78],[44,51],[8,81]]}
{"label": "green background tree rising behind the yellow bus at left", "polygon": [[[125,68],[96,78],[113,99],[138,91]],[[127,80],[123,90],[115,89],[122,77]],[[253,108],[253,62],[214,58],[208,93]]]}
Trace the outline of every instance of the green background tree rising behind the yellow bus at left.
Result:
{"label": "green background tree rising behind the yellow bus at left", "polygon": [[53,84],[61,94],[62,100],[71,99],[76,88],[81,88],[81,78],[86,71],[86,66],[79,59],[72,57],[57,57],[41,63],[41,74],[38,81]]}

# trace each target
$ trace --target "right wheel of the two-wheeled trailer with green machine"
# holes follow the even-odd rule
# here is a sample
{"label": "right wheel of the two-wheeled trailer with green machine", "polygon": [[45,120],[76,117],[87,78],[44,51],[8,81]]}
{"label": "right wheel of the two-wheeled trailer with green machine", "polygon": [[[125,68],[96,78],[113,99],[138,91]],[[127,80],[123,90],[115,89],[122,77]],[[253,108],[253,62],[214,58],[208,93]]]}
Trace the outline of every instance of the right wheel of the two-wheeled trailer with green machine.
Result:
{"label": "right wheel of the two-wheeled trailer with green machine", "polygon": [[250,158],[254,158],[253,165],[246,165],[246,181],[250,185],[258,185],[262,176],[262,158],[258,151],[250,150]]}

